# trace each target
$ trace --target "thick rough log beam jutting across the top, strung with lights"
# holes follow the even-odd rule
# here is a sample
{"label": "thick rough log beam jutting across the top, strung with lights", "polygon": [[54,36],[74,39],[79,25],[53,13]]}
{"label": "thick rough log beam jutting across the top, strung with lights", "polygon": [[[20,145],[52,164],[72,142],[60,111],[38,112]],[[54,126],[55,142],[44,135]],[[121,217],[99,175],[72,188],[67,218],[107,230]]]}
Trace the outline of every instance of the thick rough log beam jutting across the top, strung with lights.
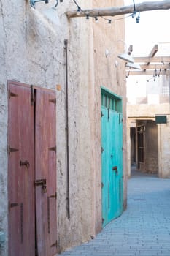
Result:
{"label": "thick rough log beam jutting across the top, strung with lights", "polygon": [[[136,4],[136,12],[146,12],[153,10],[169,10],[170,9],[170,1],[145,1],[140,4]],[[68,18],[78,18],[85,17],[89,15],[90,17],[99,17],[99,16],[117,16],[117,15],[125,15],[128,13],[134,12],[134,5],[123,6],[123,7],[111,7],[111,8],[96,8],[96,9],[88,9],[80,12],[80,15],[77,15],[77,10],[66,12]]]}

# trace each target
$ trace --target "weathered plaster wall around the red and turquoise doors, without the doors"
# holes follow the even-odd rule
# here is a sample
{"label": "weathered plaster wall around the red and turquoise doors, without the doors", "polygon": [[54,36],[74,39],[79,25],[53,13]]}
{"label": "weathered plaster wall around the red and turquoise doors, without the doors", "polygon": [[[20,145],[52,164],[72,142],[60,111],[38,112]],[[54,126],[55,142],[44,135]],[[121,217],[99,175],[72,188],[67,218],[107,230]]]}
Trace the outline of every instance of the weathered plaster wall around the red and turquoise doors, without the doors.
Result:
{"label": "weathered plaster wall around the red and turquoise doors, without the doors", "polygon": [[[123,21],[108,26],[101,20],[75,18],[65,12],[75,9],[73,1],[50,4],[0,0],[0,230],[6,243],[0,255],[7,255],[7,80],[17,80],[56,90],[58,170],[58,251],[87,241],[101,230],[101,86],[123,97],[125,131],[125,72],[116,59],[124,45]],[[79,1],[82,8],[93,1]],[[102,2],[102,4],[104,4]],[[114,0],[108,4],[115,5]],[[116,1],[120,5],[120,1]],[[101,1],[94,5],[102,7]],[[44,14],[50,15],[48,20]],[[55,16],[56,15],[56,16]],[[56,18],[55,18],[56,17]],[[121,28],[121,29],[120,29]],[[69,197],[66,175],[66,63],[64,39],[69,41]],[[117,42],[119,41],[119,42]],[[114,46],[115,45],[115,46]],[[111,50],[109,58],[105,49]],[[124,132],[124,152],[125,132]],[[125,154],[124,154],[125,170]]]}

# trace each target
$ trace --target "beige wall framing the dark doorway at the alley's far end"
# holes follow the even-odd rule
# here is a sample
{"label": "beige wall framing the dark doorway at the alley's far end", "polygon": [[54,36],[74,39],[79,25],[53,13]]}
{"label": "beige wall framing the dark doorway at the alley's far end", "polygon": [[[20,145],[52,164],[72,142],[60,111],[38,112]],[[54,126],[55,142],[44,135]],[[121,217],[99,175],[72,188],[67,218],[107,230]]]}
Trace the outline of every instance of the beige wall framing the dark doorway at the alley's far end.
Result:
{"label": "beige wall framing the dark doorway at the alley's far end", "polygon": [[[169,103],[163,103],[160,105],[145,105],[145,104],[128,105],[127,107],[127,116],[128,116],[127,141],[128,141],[128,145],[130,145],[129,131],[131,127],[131,121],[138,120],[138,119],[155,121],[155,115],[158,115],[158,114],[167,115],[167,124],[157,124],[158,126],[158,176],[160,176],[161,178],[169,178],[170,177]],[[130,176],[130,173],[131,173],[130,153],[131,152],[128,150],[128,176]]]}

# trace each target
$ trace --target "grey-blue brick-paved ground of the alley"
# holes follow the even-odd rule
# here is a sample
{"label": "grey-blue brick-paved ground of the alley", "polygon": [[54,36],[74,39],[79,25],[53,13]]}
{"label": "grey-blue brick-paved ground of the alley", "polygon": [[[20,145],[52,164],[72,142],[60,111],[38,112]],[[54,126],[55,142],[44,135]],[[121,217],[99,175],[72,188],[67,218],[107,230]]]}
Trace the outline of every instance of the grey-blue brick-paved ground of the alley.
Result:
{"label": "grey-blue brick-paved ground of the alley", "polygon": [[87,244],[60,256],[170,256],[170,179],[134,175],[128,208]]}

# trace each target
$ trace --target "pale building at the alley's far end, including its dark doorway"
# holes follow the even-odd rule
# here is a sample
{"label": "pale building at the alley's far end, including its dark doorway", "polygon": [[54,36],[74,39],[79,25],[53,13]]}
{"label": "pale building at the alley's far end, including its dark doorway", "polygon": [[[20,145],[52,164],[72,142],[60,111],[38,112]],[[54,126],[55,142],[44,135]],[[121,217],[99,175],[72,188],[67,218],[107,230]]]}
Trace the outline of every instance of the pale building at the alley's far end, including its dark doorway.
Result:
{"label": "pale building at the alley's far end, including its dark doorway", "polygon": [[137,170],[169,178],[169,73],[141,80],[143,97],[136,94],[127,105],[128,176],[135,163]]}

